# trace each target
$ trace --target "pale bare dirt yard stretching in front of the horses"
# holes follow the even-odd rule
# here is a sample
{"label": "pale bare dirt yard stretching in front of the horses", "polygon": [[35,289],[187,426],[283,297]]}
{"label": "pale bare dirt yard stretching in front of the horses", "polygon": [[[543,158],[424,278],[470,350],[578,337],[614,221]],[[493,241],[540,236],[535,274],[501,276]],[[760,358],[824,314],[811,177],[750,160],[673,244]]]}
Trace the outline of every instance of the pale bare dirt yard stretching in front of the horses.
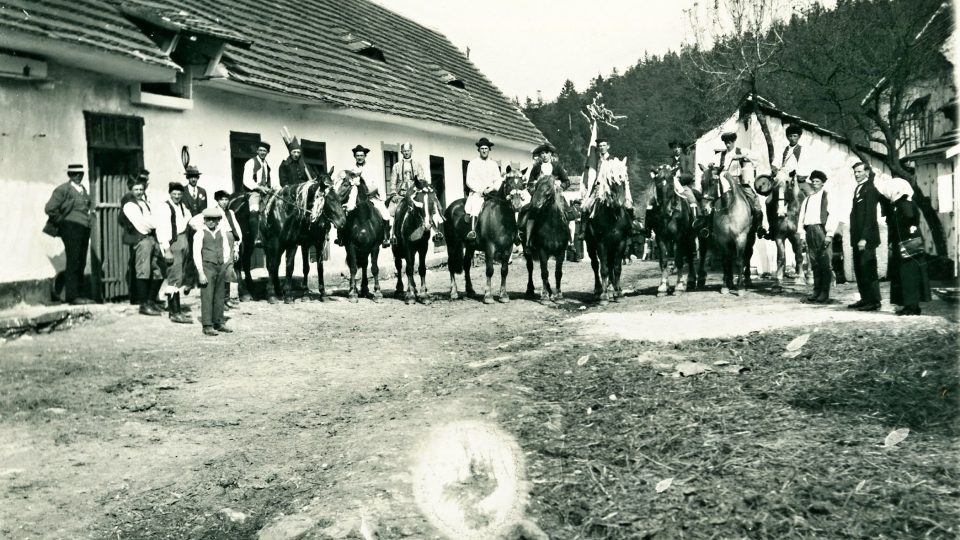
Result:
{"label": "pale bare dirt yard stretching in front of the horses", "polygon": [[716,276],[711,291],[657,299],[652,263],[625,266],[637,292],[607,307],[589,301],[588,264],[567,264],[567,300],[544,305],[522,299],[521,270],[509,304],[450,302],[441,270],[431,306],[352,304],[338,289],[245,303],[217,338],[130,313],[3,344],[0,537],[436,537],[414,495],[424,444],[449,422],[522,416],[536,396],[517,362],[569,362],[572,346],[602,356],[624,338],[894,319],[801,306],[799,293],[722,297]]}

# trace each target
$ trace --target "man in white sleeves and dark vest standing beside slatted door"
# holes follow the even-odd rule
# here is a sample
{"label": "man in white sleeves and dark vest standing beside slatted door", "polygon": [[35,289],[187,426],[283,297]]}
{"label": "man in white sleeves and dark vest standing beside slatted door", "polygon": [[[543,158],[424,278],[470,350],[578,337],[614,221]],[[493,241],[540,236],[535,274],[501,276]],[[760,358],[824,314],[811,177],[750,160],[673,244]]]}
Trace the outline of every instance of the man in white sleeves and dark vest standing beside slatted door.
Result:
{"label": "man in white sleeves and dark vest standing beside slatted door", "polygon": [[120,225],[122,240],[130,246],[133,270],[131,296],[140,302],[141,315],[160,315],[156,304],[163,275],[158,260],[155,222],[150,203],[146,199],[147,177],[138,176],[130,187],[130,193],[121,199]]}

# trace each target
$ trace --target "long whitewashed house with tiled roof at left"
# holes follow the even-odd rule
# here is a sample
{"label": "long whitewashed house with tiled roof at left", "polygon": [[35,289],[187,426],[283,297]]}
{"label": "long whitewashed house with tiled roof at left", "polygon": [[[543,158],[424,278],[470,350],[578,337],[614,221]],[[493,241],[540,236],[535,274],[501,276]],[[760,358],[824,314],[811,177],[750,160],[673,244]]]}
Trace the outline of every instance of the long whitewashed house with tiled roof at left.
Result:
{"label": "long whitewashed house with tiled roof at left", "polygon": [[[93,294],[116,298],[126,177],[149,170],[148,196],[164,200],[167,183],[183,181],[184,146],[212,196],[240,189],[259,141],[276,172],[282,126],[324,168],[351,166],[362,144],[386,173],[410,141],[448,204],[479,137],[504,163],[529,161],[545,140],[443,35],[368,0],[6,1],[0,107],[0,186],[14,202],[0,213],[0,306],[50,298],[63,248],[41,233],[43,205],[69,163],[87,166],[100,205]],[[332,246],[327,270],[343,260]]]}

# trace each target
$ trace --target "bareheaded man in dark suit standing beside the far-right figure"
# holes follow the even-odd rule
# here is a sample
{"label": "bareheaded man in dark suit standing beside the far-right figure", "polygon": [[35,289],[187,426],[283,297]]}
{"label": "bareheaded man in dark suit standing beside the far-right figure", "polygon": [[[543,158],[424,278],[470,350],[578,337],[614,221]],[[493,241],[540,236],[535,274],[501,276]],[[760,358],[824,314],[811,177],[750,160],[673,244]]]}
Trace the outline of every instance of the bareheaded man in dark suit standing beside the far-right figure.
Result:
{"label": "bareheaded man in dark suit standing beside the far-right figure", "polygon": [[857,162],[853,166],[853,177],[857,187],[853,190],[853,208],[850,210],[850,245],[853,246],[853,273],[860,300],[847,307],[877,311],[880,309],[880,277],[877,274],[877,246],[880,245],[877,204],[880,193],[865,163]]}

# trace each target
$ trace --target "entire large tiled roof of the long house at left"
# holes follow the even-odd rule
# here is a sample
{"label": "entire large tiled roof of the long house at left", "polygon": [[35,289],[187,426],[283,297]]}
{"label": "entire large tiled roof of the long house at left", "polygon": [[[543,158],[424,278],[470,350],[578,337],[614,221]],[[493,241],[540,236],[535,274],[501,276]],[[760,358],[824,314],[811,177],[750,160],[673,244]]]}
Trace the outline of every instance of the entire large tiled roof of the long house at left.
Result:
{"label": "entire large tiled roof of the long house at left", "polygon": [[[0,3],[0,30],[171,66],[124,11],[224,39],[228,76],[246,85],[490,138],[545,140],[446,37],[370,0],[9,0]],[[381,53],[385,62],[370,57]]]}

